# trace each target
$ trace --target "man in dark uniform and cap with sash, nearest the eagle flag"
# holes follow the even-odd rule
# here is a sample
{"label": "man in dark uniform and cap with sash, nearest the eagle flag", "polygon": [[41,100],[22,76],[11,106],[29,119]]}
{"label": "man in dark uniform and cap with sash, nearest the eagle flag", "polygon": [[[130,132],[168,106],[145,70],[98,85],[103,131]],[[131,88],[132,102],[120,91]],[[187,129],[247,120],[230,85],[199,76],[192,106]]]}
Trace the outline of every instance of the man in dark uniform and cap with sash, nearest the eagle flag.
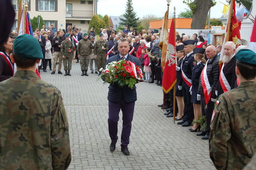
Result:
{"label": "man in dark uniform and cap with sash, nearest the eagle flag", "polygon": [[181,63],[181,81],[179,83],[178,89],[183,92],[183,97],[185,101],[185,109],[184,109],[184,118],[181,122],[178,122],[178,125],[182,125],[183,127],[191,126],[194,119],[194,110],[193,105],[191,103],[191,95],[190,95],[190,87],[192,86],[192,68],[196,65],[196,61],[194,61],[194,40],[189,39],[184,42],[184,51],[187,54]]}

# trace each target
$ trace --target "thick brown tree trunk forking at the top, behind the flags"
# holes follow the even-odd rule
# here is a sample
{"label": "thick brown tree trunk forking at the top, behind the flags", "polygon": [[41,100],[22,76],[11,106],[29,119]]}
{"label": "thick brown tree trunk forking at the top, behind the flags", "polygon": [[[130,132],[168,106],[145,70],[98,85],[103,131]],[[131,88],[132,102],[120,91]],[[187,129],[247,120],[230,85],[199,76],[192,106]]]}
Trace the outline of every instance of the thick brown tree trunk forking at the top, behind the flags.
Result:
{"label": "thick brown tree trunk forking at the top, behind the flags", "polygon": [[216,4],[216,0],[183,0],[193,13],[191,29],[204,29],[209,9]]}

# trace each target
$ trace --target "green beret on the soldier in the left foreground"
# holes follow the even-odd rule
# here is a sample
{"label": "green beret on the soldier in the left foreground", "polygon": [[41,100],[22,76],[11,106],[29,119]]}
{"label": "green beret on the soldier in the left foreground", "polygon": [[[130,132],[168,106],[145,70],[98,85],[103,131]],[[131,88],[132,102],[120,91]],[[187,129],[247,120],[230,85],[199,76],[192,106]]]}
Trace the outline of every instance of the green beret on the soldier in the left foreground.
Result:
{"label": "green beret on the soldier in the left foreground", "polygon": [[23,60],[44,58],[38,40],[28,34],[19,35],[15,39],[13,43],[13,52]]}

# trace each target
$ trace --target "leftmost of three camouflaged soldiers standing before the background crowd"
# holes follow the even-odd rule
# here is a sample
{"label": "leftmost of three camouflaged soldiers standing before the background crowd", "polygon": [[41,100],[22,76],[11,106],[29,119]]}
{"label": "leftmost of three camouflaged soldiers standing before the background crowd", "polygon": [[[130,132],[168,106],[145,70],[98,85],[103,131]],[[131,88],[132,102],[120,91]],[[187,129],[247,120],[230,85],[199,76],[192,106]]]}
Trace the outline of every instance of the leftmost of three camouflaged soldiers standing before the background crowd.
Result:
{"label": "leftmost of three camouflaged soldiers standing before the background crowd", "polygon": [[62,41],[62,46],[61,46],[61,53],[62,53],[62,58],[63,58],[63,65],[64,65],[64,70],[66,75],[70,75],[70,70],[72,66],[72,59],[73,59],[73,51],[74,51],[74,46],[73,43],[69,40],[69,35],[65,34],[65,41]]}

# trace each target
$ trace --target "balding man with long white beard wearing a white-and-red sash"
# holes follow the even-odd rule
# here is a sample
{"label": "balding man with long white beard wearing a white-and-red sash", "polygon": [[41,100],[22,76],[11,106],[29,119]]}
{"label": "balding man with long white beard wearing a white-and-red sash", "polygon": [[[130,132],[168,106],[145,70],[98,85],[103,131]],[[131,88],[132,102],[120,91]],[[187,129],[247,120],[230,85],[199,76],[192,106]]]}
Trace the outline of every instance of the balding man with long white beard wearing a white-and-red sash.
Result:
{"label": "balding man with long white beard wearing a white-and-red sash", "polygon": [[219,97],[222,93],[228,92],[237,87],[237,76],[235,74],[235,44],[232,41],[226,42],[224,50],[224,56],[220,59],[223,61],[223,65],[215,91],[217,97]]}

